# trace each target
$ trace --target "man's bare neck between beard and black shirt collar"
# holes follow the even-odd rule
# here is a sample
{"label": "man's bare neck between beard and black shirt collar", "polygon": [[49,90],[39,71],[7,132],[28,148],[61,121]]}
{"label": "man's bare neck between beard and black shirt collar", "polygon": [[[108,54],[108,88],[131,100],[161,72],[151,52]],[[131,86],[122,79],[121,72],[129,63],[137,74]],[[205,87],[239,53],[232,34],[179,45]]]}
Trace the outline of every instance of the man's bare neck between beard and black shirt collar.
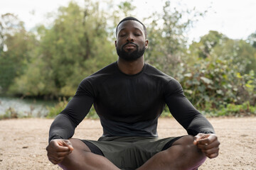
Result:
{"label": "man's bare neck between beard and black shirt collar", "polygon": [[139,59],[135,61],[126,61],[119,57],[117,65],[124,74],[137,74],[141,72],[144,67],[144,56],[139,57]]}

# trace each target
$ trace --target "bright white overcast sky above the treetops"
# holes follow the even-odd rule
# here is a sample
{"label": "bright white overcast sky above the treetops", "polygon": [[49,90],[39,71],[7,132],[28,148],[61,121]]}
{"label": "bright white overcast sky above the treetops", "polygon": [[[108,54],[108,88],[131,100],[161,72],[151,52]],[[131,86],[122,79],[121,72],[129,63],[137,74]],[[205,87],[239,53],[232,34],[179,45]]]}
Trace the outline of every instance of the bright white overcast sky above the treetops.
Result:
{"label": "bright white overcast sky above the treetops", "polygon": [[[0,0],[0,14],[17,14],[24,21],[26,29],[30,30],[36,24],[49,22],[46,15],[58,10],[59,6],[67,6],[70,0]],[[77,1],[83,5],[84,0]],[[121,0],[113,0],[117,4]],[[198,21],[189,32],[190,40],[198,40],[209,30],[217,30],[233,39],[246,39],[256,31],[256,0],[183,0],[183,8],[196,7],[199,11],[208,9],[206,16]],[[171,0],[177,4],[178,0]],[[161,11],[163,0],[134,0],[137,6],[138,18],[147,13]],[[210,8],[209,8],[210,7]],[[143,17],[142,17],[143,16]]]}

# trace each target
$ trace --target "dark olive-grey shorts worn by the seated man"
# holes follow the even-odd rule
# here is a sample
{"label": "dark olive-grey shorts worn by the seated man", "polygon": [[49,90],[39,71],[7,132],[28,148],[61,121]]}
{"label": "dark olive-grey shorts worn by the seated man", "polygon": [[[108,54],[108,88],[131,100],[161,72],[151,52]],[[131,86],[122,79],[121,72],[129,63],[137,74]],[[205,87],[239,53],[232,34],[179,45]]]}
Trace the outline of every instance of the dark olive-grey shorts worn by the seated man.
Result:
{"label": "dark olive-grey shorts worn by the seated man", "polygon": [[[101,154],[119,169],[137,169],[148,159],[171,147],[180,137],[100,137],[99,140],[82,140],[95,154]],[[97,148],[93,148],[95,145]]]}

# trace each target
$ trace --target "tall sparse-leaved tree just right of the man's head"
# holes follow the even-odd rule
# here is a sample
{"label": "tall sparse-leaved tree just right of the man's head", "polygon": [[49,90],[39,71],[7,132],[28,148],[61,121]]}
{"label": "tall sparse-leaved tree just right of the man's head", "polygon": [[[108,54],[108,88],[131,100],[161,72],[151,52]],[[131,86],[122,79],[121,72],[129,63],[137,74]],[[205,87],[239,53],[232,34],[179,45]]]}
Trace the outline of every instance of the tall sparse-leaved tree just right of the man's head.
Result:
{"label": "tall sparse-leaved tree just right of the man's head", "polygon": [[153,13],[146,18],[148,26],[149,49],[146,52],[146,62],[153,64],[163,72],[178,77],[186,63],[188,38],[185,33],[193,25],[198,16],[196,11],[179,11],[166,1],[163,13]]}

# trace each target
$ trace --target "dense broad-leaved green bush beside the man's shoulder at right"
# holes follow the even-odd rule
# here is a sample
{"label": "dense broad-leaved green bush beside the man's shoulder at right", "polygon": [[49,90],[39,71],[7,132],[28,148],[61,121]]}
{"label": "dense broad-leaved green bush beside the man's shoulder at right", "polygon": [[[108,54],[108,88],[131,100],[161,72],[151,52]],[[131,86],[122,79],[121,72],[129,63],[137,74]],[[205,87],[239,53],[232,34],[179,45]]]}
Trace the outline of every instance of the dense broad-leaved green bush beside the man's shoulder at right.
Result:
{"label": "dense broad-leaved green bush beside the man's shoulder at right", "polygon": [[241,75],[228,67],[226,60],[203,62],[187,70],[180,79],[186,96],[198,108],[219,108],[228,103],[256,100],[256,81],[253,71]]}

